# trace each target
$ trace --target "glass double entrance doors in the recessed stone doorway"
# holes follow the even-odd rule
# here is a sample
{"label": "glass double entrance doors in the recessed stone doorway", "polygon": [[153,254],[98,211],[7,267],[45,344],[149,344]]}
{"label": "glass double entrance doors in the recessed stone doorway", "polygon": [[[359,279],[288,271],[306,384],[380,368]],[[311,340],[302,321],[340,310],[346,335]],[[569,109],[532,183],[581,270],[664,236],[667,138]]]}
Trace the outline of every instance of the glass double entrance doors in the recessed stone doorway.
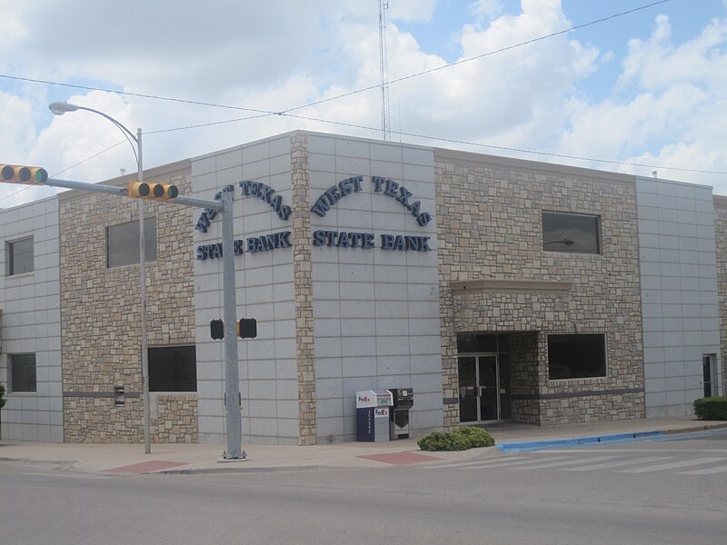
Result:
{"label": "glass double entrance doors in the recessed stone doorway", "polygon": [[506,354],[459,358],[460,421],[510,418],[510,373]]}

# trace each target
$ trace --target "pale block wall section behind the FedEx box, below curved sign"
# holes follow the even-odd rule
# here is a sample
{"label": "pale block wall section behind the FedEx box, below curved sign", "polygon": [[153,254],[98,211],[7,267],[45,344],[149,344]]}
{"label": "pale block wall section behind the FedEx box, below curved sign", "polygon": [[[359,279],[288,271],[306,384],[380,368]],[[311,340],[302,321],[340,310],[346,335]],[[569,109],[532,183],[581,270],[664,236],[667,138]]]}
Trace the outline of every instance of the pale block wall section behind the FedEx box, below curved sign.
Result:
{"label": "pale block wall section behind the FedEx box, below curved sign", "polygon": [[[433,150],[342,136],[309,134],[311,204],[331,186],[362,176],[311,231],[373,233],[374,247],[314,246],[314,334],[317,434],[356,436],[355,392],[413,388],[414,436],[443,425],[439,280],[435,219],[417,224],[394,198],[373,189],[392,179],[435,213]],[[431,251],[382,249],[382,234],[429,237]]]}

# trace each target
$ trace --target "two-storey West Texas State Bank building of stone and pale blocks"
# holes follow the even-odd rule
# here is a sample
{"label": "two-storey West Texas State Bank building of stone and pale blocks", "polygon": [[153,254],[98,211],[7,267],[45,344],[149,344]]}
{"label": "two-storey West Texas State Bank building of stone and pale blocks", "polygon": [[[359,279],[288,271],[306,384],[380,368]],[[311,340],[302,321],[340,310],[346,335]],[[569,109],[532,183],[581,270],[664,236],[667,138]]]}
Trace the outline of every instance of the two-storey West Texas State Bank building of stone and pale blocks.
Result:
{"label": "two-storey West Texas State Bank building of stone and pale blocks", "polygon": [[[358,391],[412,394],[411,437],[724,392],[711,187],[304,131],[144,179],[234,193],[244,442],[354,441]],[[5,440],[143,441],[137,211],[82,190],[0,210]],[[144,211],[151,439],[222,443],[222,221]]]}

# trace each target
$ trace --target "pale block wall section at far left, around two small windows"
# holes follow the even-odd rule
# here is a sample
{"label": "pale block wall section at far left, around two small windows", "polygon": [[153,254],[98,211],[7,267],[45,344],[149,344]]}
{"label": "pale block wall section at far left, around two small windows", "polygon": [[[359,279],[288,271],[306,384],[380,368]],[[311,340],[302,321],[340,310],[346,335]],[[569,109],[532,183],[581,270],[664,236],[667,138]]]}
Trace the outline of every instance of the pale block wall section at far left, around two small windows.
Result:
{"label": "pale block wall section at far left, around two small windows", "polygon": [[[0,381],[5,384],[5,440],[63,441],[58,201],[0,210]],[[7,275],[7,243],[33,237],[33,272]],[[14,392],[10,355],[35,353],[35,392]]]}

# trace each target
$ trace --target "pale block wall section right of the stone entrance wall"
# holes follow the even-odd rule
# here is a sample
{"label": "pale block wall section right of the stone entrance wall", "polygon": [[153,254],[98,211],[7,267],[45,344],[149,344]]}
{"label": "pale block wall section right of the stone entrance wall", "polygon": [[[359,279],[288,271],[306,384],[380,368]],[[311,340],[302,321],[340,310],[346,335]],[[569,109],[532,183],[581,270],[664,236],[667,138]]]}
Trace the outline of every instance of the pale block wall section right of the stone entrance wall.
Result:
{"label": "pale block wall section right of the stone entrance wall", "polygon": [[693,413],[720,362],[712,188],[637,178],[647,417]]}

